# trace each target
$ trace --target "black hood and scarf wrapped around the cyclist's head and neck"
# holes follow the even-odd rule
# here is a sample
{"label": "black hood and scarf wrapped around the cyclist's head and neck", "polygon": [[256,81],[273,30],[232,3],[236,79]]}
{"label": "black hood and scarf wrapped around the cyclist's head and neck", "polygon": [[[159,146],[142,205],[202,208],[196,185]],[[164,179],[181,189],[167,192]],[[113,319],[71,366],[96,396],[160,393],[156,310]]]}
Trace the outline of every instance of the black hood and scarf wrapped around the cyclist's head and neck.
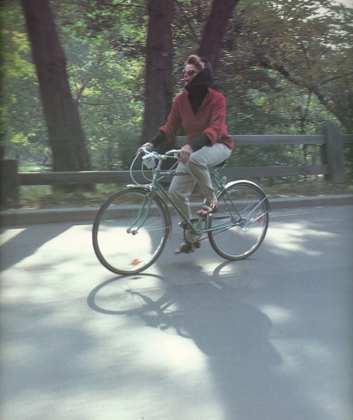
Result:
{"label": "black hood and scarf wrapped around the cyclist's head and neck", "polygon": [[203,64],[205,64],[205,67],[197,73],[193,80],[185,87],[189,92],[189,101],[194,114],[198,112],[207,93],[207,88],[213,82],[213,68],[210,61],[205,57],[202,57],[201,60],[203,61]]}

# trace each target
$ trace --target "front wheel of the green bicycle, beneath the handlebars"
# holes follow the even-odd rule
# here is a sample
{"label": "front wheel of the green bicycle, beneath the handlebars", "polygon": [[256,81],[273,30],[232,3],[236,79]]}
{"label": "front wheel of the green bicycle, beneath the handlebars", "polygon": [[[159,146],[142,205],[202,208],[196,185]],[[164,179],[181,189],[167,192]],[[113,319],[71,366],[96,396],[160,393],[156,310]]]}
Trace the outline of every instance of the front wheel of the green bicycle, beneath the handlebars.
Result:
{"label": "front wheel of the green bicycle, beneath the handlebars", "polygon": [[171,228],[159,196],[143,188],[115,193],[97,212],[92,229],[95,254],[117,274],[140,272],[162,253]]}

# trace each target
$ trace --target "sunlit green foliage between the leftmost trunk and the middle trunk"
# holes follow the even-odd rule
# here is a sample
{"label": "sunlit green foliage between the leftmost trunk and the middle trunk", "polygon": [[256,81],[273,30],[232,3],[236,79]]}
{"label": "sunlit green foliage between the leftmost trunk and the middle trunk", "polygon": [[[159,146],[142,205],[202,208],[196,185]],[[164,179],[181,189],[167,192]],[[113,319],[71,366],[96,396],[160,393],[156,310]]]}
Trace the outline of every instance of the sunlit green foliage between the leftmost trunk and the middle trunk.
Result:
{"label": "sunlit green foliage between the leftmost trunk and the middle trunk", "polygon": [[[78,1],[56,11],[73,97],[93,169],[126,169],[143,119],[146,10],[143,1]],[[75,18],[85,13],[85,20]],[[71,25],[74,23],[74,32]],[[140,51],[138,54],[136,52]]]}

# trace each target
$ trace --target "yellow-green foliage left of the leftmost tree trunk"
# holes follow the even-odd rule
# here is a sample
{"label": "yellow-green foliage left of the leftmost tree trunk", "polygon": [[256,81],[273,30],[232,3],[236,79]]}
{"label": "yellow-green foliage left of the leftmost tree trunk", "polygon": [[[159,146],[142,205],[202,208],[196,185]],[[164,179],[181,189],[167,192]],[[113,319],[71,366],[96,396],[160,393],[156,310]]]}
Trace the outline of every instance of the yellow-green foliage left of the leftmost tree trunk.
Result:
{"label": "yellow-green foliage left of the leftmost tree trunk", "polygon": [[21,10],[13,1],[1,8],[1,146],[7,155],[42,158],[47,148],[35,68]]}

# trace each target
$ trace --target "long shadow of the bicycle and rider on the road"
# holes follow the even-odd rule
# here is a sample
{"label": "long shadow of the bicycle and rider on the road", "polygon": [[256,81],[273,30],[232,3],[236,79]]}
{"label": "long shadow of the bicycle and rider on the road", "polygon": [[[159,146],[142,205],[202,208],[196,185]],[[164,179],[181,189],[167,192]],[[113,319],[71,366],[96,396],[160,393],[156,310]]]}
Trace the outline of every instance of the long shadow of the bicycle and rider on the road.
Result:
{"label": "long shadow of the bicycle and rider on the road", "polygon": [[[213,275],[188,267],[197,280],[187,284],[180,284],[181,277],[114,277],[90,292],[88,305],[100,313],[137,316],[149,328],[193,340],[208,358],[225,419],[285,419],[298,407],[303,418],[315,418],[306,402],[293,398],[295,385],[279,373],[282,360],[269,340],[271,320],[244,299],[251,286],[234,274],[230,284],[220,274],[227,264],[218,265]],[[118,301],[118,289],[130,297]]]}

